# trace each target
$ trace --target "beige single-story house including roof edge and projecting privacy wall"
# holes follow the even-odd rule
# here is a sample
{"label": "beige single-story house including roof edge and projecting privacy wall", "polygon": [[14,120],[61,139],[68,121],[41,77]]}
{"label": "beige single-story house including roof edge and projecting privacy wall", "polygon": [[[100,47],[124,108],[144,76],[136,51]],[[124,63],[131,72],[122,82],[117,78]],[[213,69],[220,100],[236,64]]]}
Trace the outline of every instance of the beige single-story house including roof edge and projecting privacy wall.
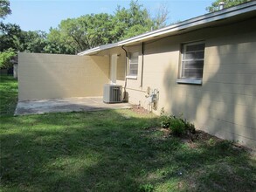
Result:
{"label": "beige single-story house including roof edge and projecting privacy wall", "polygon": [[[36,64],[36,65],[35,65]],[[19,54],[19,99],[102,96],[256,149],[256,2],[194,17],[78,56]]]}

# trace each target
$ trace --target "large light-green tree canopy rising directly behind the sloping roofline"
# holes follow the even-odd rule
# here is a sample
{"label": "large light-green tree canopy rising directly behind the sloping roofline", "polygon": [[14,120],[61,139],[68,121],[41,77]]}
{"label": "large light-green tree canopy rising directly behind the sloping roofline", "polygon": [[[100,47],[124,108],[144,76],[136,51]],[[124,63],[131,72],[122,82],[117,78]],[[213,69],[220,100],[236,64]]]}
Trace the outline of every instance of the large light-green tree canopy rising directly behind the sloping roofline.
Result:
{"label": "large light-green tree canopy rising directly behind the sloping roofline", "polygon": [[153,19],[142,4],[131,1],[128,9],[118,6],[114,15],[100,13],[63,20],[50,30],[48,39],[70,53],[84,51],[164,27],[168,11],[157,14]]}

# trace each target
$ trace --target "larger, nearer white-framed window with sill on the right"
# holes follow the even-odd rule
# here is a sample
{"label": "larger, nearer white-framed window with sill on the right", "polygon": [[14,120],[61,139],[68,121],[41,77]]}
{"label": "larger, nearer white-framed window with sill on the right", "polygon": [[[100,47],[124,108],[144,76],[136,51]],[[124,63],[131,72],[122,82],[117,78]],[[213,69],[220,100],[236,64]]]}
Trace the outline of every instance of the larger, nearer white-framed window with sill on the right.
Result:
{"label": "larger, nearer white-framed window with sill on the right", "polygon": [[204,42],[182,45],[178,83],[202,84],[204,70]]}

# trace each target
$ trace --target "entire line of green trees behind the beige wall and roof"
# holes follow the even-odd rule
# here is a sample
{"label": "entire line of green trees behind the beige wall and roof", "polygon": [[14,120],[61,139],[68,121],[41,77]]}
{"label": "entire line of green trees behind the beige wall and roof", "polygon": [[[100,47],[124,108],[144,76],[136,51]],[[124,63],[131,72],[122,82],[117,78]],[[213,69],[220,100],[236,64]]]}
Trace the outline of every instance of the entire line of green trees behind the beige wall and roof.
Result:
{"label": "entire line of green trees behind the beige wall and roof", "polygon": [[[8,0],[0,0],[0,5],[1,17],[10,14]],[[168,10],[163,6],[157,11],[152,17],[142,4],[132,0],[128,8],[117,6],[113,14],[86,14],[62,20],[48,34],[22,31],[17,24],[0,22],[0,53],[5,52],[4,61],[17,51],[74,54],[164,27]]]}

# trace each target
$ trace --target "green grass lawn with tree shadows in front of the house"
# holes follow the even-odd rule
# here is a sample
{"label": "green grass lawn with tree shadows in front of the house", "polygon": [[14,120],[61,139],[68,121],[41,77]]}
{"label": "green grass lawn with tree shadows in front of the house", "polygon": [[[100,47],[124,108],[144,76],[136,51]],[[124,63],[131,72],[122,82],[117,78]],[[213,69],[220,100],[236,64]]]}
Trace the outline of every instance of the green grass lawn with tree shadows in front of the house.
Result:
{"label": "green grass lawn with tree shadows in front of the house", "polygon": [[255,157],[231,142],[181,140],[133,110],[12,117],[17,84],[0,88],[0,191],[256,189]]}

